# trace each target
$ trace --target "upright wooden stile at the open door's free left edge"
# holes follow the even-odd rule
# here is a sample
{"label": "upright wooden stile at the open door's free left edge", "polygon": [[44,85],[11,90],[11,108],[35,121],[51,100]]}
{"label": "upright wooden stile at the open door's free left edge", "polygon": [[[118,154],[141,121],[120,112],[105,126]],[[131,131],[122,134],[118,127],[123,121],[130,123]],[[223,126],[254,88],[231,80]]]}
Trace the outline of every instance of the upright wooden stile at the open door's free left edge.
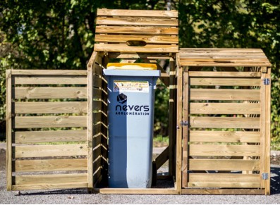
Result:
{"label": "upright wooden stile at the open door's free left edge", "polygon": [[6,180],[7,190],[12,190],[12,81],[11,70],[6,70]]}

